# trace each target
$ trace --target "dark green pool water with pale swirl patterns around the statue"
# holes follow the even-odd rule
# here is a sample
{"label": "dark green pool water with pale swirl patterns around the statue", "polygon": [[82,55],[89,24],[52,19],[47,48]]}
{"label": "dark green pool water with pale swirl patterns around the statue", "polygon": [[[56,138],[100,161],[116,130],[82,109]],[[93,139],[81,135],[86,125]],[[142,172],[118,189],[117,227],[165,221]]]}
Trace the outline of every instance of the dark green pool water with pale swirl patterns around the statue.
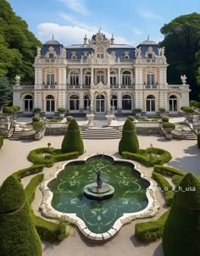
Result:
{"label": "dark green pool water with pale swirl patterns around the statue", "polygon": [[[102,171],[103,182],[114,186],[113,198],[96,201],[84,196],[84,186],[96,182],[95,170]],[[53,192],[53,208],[77,214],[94,233],[108,231],[124,213],[145,209],[148,186],[149,182],[142,180],[133,164],[105,155],[67,164],[57,179],[48,184]]]}

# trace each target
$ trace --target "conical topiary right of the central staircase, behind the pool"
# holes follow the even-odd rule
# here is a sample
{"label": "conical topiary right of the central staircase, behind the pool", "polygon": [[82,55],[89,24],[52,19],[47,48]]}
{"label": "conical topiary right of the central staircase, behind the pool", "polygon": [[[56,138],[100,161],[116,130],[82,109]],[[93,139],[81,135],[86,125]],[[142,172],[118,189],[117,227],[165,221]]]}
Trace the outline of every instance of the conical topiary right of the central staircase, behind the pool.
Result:
{"label": "conical topiary right of the central staircase, behind the pool", "polygon": [[137,153],[139,150],[139,142],[136,136],[135,127],[130,119],[125,120],[123,126],[122,137],[119,142],[119,154],[123,151]]}

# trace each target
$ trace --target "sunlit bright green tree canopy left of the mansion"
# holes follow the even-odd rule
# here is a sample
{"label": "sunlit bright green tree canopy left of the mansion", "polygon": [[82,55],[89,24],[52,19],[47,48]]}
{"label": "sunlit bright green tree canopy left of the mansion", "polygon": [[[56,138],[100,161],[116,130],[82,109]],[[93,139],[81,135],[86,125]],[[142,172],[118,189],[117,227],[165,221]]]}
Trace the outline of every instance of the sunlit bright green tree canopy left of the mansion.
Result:
{"label": "sunlit bright green tree canopy left of the mansion", "polygon": [[42,46],[42,43],[28,30],[25,20],[14,14],[6,0],[1,0],[0,76],[6,75],[14,80],[18,74],[21,76],[21,83],[32,84],[36,45]]}

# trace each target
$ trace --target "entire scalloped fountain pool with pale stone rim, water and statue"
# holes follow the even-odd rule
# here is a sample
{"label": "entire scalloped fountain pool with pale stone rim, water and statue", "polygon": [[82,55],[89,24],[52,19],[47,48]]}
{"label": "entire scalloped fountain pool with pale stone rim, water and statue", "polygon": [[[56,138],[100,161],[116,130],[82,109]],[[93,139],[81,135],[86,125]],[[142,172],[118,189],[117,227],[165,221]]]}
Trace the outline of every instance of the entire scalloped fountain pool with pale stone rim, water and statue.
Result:
{"label": "entire scalloped fountain pool with pale stone rim, water and statue", "polygon": [[104,154],[69,161],[41,189],[44,216],[63,217],[98,242],[114,237],[125,223],[158,212],[152,181],[131,161]]}

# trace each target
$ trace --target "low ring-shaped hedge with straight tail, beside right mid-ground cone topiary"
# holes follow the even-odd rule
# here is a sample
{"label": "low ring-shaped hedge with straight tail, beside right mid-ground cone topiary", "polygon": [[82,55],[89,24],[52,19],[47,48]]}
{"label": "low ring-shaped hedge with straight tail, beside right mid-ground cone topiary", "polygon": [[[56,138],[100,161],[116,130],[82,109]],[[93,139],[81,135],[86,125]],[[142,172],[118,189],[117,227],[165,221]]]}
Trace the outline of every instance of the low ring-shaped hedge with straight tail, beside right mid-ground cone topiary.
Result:
{"label": "low ring-shaped hedge with straight tail, beside right mid-ground cone topiary", "polygon": [[[158,154],[158,157],[153,156]],[[135,160],[136,162],[142,163],[146,166],[152,167],[155,164],[165,164],[171,159],[171,154],[158,147],[147,147],[147,149],[140,149],[138,153],[122,152],[124,159]]]}

